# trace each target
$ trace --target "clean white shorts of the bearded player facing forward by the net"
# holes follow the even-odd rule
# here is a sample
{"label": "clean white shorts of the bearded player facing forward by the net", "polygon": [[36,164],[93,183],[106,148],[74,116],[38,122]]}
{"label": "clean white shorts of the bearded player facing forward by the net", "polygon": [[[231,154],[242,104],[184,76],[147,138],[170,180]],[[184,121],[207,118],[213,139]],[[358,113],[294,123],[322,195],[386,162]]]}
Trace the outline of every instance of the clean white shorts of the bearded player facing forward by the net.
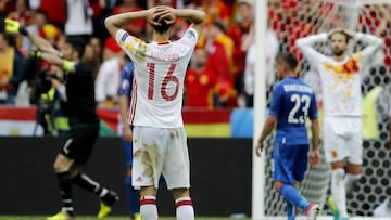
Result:
{"label": "clean white shorts of the bearded player facing forward by the net", "polygon": [[327,163],[348,159],[363,164],[363,122],[360,117],[325,117],[323,143]]}

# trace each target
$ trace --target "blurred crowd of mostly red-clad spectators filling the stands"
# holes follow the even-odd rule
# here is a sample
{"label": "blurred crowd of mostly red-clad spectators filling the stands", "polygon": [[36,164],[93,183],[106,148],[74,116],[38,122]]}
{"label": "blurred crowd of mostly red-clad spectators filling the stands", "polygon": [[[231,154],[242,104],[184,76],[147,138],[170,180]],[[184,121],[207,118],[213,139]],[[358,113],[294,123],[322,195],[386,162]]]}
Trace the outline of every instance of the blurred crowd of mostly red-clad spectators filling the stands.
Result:
{"label": "blurred crowd of mostly red-clad spectators filling the stands", "polygon": [[[96,101],[99,106],[117,107],[117,88],[122,68],[129,62],[115,40],[109,37],[103,21],[111,14],[138,11],[155,4],[174,8],[197,8],[206,12],[203,35],[189,64],[184,106],[252,107],[255,76],[254,0],[0,0],[1,17],[18,21],[27,29],[61,49],[65,37],[86,41],[84,62],[96,77]],[[302,55],[295,39],[318,31],[328,31],[341,17],[328,16],[335,5],[318,0],[269,0],[266,33],[266,88],[275,82],[274,57],[287,50]],[[386,47],[381,61],[390,69],[390,8],[360,16],[362,31],[382,36]],[[380,13],[380,14],[379,14]],[[338,14],[338,13],[335,13]],[[364,17],[364,18],[363,18]],[[368,17],[366,20],[365,17]],[[1,20],[2,21],[2,20]],[[378,23],[367,28],[368,22]],[[177,21],[172,38],[182,36],[187,21]],[[150,26],[144,21],[129,23],[126,30],[149,41]],[[1,28],[0,37],[0,104],[36,105],[51,88],[48,76],[53,69],[37,59],[36,49],[22,36],[12,36]],[[45,95],[43,95],[45,96]]]}

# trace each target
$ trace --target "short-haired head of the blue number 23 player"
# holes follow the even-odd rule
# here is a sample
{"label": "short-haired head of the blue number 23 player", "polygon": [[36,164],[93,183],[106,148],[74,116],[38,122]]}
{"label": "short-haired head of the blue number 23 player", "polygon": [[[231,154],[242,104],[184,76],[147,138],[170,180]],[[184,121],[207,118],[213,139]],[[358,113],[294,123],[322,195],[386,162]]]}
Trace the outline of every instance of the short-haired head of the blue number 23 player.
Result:
{"label": "short-haired head of the blue number 23 player", "polygon": [[276,56],[276,75],[278,79],[283,79],[285,76],[295,74],[298,68],[298,59],[293,53],[279,52]]}

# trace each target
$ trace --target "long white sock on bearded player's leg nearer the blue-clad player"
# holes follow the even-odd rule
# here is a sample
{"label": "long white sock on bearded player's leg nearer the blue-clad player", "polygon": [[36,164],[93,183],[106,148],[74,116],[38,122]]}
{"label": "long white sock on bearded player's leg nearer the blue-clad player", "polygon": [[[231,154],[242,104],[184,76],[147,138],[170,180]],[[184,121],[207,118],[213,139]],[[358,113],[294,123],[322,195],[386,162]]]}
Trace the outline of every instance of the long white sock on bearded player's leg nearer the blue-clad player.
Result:
{"label": "long white sock on bearded player's leg nearer the blue-clad player", "polygon": [[331,171],[331,195],[341,218],[348,217],[346,189],[343,181],[344,173],[344,169]]}

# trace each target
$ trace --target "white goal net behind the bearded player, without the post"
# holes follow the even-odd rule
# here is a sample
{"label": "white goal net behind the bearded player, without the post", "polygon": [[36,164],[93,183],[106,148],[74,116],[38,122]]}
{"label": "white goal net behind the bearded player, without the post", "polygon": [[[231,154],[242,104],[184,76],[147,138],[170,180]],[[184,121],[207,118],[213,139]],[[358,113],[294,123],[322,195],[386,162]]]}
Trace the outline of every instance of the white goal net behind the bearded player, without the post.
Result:
{"label": "white goal net behind the bearded player, without the post", "polygon": [[[364,106],[364,165],[363,178],[348,195],[351,216],[370,217],[373,210],[391,196],[391,151],[387,148],[387,119],[390,111],[391,86],[391,1],[389,0],[269,0],[268,28],[280,41],[280,50],[298,55],[302,63],[301,77],[315,88],[321,106],[320,81],[316,73],[294,46],[300,37],[344,27],[354,31],[370,33],[384,39],[384,47],[374,54],[363,75],[362,91]],[[329,52],[326,44],[317,46],[319,51]],[[353,42],[352,50],[361,49]],[[375,106],[370,108],[370,106]],[[321,107],[320,107],[321,109]],[[375,126],[369,126],[375,125]],[[285,216],[285,199],[275,192],[272,184],[273,140],[268,140],[265,161],[265,216]],[[321,147],[320,147],[321,148]],[[323,154],[323,152],[321,152]],[[324,157],[323,157],[324,158]],[[329,196],[330,168],[325,161],[316,169],[307,169],[300,190],[313,203],[321,205],[323,216],[331,215],[326,198]]]}

